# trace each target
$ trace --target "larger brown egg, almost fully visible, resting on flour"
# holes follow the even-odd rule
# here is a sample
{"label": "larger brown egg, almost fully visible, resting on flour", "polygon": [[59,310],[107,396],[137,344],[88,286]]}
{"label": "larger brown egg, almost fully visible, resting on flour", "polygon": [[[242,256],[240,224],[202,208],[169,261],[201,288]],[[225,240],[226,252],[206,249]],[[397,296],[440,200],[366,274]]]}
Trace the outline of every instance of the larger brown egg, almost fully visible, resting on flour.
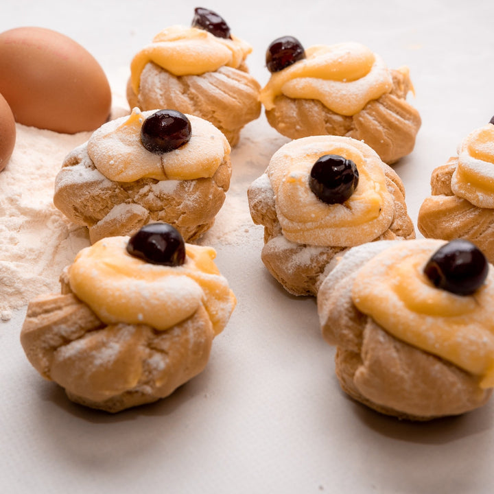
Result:
{"label": "larger brown egg, almost fully visible, resting on flour", "polygon": [[0,93],[20,124],[56,132],[94,130],[110,114],[102,67],[74,40],[43,27],[0,34]]}

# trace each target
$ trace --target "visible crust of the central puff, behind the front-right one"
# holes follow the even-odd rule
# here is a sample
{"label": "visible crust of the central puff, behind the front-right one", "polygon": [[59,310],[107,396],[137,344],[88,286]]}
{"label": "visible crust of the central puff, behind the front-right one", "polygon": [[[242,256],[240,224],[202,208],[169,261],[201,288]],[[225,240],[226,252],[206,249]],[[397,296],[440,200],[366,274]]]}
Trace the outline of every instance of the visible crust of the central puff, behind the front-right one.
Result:
{"label": "visible crust of the central puff, behind the front-right one", "polygon": [[[392,168],[380,161],[379,165],[384,173],[393,206],[390,225],[374,239],[412,239],[415,232],[407,213],[403,183]],[[287,292],[315,296],[320,283],[333,266],[333,258],[343,255],[349,247],[290,242],[283,235],[277,215],[275,194],[266,173],[250,185],[248,202],[253,222],[264,226],[261,259],[266,268]]]}

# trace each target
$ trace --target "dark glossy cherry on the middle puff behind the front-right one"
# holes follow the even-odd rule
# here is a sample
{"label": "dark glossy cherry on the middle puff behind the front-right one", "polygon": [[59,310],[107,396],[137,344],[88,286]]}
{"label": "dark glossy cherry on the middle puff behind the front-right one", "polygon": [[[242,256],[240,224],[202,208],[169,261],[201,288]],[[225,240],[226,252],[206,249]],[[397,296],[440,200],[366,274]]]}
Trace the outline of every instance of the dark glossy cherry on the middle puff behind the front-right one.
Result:
{"label": "dark glossy cherry on the middle puff behind the front-right one", "polygon": [[342,204],[357,188],[357,165],[338,154],[321,156],[311,169],[309,187],[327,204]]}

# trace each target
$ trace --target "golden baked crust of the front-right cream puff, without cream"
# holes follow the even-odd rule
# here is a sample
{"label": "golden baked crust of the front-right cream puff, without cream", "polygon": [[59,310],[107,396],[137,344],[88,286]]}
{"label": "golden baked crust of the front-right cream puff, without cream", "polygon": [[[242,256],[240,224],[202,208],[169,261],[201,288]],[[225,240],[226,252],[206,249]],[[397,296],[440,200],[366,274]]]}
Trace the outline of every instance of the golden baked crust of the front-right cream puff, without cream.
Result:
{"label": "golden baked crust of the front-right cream puff, without cream", "polygon": [[429,420],[484,405],[491,390],[440,357],[392,336],[362,314],[352,299],[358,270],[396,242],[373,242],[346,252],[318,292],[322,336],[337,346],[336,375],[353,399],[400,419]]}

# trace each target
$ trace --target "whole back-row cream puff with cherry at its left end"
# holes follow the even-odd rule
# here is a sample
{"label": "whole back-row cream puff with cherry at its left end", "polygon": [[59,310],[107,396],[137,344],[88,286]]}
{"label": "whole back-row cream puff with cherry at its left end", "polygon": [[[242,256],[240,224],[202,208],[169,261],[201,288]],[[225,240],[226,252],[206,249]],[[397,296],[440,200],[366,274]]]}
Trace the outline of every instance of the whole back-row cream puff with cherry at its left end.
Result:
{"label": "whole back-row cream puff with cherry at its left end", "polygon": [[388,69],[359,43],[304,50],[292,36],[271,43],[266,64],[272,74],[260,99],[281,134],[353,137],[388,164],[412,152],[421,117],[406,101],[413,91],[408,67]]}

